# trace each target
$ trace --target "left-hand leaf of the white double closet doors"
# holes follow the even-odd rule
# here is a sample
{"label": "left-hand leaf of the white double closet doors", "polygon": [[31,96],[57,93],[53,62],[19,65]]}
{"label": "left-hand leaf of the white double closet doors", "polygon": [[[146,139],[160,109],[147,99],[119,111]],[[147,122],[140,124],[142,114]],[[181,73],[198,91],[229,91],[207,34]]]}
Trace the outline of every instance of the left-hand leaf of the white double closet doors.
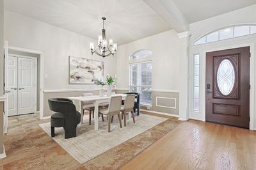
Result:
{"label": "left-hand leaf of the white double closet doors", "polygon": [[7,82],[6,90],[10,91],[8,95],[8,116],[17,115],[17,96],[18,96],[18,59],[17,57],[8,56],[7,61]]}

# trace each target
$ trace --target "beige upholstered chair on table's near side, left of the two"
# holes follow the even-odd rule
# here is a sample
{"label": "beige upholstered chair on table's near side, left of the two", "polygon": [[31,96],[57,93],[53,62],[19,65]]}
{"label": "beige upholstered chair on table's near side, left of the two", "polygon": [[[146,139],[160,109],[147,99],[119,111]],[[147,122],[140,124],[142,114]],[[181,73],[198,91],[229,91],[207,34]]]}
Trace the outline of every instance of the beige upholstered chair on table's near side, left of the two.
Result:
{"label": "beige upholstered chair on table's near side, left of the two", "polygon": [[99,110],[100,114],[105,114],[108,116],[108,132],[110,132],[110,123],[111,117],[116,115],[118,116],[120,128],[122,128],[121,121],[121,104],[122,104],[122,96],[111,97],[108,108],[102,108]]}

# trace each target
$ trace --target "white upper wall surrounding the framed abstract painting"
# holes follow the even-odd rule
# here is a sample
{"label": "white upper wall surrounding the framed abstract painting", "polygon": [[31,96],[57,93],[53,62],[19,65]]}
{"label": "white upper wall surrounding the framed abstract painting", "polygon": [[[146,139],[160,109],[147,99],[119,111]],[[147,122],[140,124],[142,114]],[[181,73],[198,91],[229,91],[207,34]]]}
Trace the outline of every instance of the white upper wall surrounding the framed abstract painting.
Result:
{"label": "white upper wall surrounding the framed abstract painting", "polygon": [[[100,33],[100,28],[95,29]],[[90,54],[91,38],[8,10],[4,10],[4,40],[9,46],[43,52],[44,73],[48,76],[44,78],[44,89],[97,88],[92,84],[68,84],[68,56],[104,61],[104,75],[116,73],[116,57],[103,59]]]}

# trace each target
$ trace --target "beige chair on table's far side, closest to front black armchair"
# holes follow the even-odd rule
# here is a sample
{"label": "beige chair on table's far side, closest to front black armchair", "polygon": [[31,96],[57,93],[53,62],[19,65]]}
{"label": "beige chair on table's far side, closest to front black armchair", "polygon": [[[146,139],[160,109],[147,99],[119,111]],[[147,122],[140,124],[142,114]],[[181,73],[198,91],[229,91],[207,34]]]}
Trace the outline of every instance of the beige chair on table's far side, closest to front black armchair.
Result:
{"label": "beige chair on table's far side, closest to front black armchair", "polygon": [[[92,97],[93,93],[83,93],[83,97]],[[83,123],[83,116],[84,112],[88,111],[89,112],[89,125],[91,125],[91,120],[94,118],[94,104],[93,103],[84,103],[82,102],[83,105],[83,112],[81,115],[81,123]],[[99,114],[100,116],[100,114]],[[102,121],[104,121],[103,114],[101,114]]]}

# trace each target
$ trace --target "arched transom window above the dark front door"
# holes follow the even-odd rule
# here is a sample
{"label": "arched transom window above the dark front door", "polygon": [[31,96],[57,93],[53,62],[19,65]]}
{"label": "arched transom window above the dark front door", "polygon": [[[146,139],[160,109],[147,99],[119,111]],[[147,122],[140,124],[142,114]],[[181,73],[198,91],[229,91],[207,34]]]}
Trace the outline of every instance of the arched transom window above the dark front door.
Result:
{"label": "arched transom window above the dark front door", "polygon": [[205,36],[200,37],[195,41],[194,45],[200,45],[203,43],[216,42],[220,40],[227,40],[229,38],[236,38],[239,36],[256,34],[255,25],[241,25],[226,27],[217,31],[213,31]]}

